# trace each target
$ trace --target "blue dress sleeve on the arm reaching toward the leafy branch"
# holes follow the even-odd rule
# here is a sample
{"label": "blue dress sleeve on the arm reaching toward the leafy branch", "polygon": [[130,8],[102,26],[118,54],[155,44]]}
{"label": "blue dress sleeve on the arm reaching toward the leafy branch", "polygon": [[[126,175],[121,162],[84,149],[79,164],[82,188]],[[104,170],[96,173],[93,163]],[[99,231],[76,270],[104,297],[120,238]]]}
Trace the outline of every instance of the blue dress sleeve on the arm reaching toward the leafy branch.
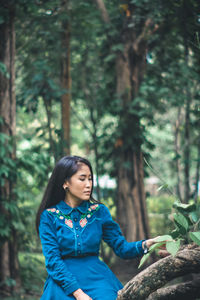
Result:
{"label": "blue dress sleeve on the arm reaching toward the leafy branch", "polygon": [[102,205],[103,240],[113,249],[115,254],[121,258],[129,259],[142,256],[144,250],[142,242],[127,242],[122,235],[119,225],[113,221],[108,208]]}

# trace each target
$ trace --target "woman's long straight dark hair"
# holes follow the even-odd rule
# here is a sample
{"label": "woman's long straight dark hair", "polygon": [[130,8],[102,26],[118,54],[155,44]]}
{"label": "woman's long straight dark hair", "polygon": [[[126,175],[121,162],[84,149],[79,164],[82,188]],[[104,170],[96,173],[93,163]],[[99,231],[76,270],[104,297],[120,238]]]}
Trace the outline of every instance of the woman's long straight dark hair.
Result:
{"label": "woman's long straight dark hair", "polygon": [[[80,156],[64,156],[62,157],[57,164],[51,174],[49,182],[47,184],[46,190],[44,192],[44,196],[42,198],[42,202],[38,209],[36,215],[36,229],[39,231],[40,224],[40,216],[41,213],[46,209],[53,205],[58,204],[61,200],[65,199],[65,190],[63,188],[63,184],[66,180],[69,180],[80,168],[81,164],[85,164],[89,167],[91,175],[92,175],[92,190],[93,190],[93,171],[90,162]],[[93,202],[97,202],[92,197],[90,199]]]}

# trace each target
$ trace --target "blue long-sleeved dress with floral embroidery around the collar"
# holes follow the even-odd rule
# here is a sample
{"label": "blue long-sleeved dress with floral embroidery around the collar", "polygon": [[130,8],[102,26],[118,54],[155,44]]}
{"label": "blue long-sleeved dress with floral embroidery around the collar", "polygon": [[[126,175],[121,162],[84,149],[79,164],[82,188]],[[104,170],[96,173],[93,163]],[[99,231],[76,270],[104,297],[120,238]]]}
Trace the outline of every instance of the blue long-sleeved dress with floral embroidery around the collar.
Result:
{"label": "blue long-sleeved dress with floral embroidery around the collar", "polygon": [[46,209],[39,234],[48,272],[41,300],[72,300],[78,288],[93,300],[115,300],[123,286],[98,257],[101,240],[124,259],[144,253],[142,241],[125,240],[105,205],[90,201],[76,208],[61,201]]}

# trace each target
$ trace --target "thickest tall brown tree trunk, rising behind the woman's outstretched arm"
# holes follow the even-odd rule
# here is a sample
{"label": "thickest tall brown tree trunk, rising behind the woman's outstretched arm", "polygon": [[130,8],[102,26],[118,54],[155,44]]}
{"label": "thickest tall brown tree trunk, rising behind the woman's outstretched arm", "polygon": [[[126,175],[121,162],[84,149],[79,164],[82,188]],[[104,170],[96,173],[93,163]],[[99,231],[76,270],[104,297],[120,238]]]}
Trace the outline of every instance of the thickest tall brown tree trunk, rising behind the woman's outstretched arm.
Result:
{"label": "thickest tall brown tree trunk, rising behind the woman's outstretched arm", "polygon": [[[96,1],[96,4],[102,19],[111,28],[103,1]],[[121,5],[121,29],[115,37],[120,45],[115,65],[116,97],[120,111],[113,153],[117,163],[118,221],[129,241],[149,236],[143,181],[141,108],[137,96],[145,74],[148,39],[156,26],[148,16],[148,10],[140,16],[138,7],[133,1]],[[113,42],[112,38],[110,40]]]}

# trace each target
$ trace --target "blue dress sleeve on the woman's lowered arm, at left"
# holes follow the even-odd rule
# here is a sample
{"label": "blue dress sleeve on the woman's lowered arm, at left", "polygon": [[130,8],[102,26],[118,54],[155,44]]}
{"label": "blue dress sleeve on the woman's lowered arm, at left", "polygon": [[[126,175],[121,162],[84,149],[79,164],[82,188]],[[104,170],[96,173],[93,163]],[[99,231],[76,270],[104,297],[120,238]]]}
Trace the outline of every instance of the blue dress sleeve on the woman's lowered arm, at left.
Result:
{"label": "blue dress sleeve on the woman's lowered arm, at left", "polygon": [[48,274],[59,284],[66,295],[73,293],[79,287],[76,278],[64,264],[56,239],[54,217],[44,211],[40,217],[39,235]]}

